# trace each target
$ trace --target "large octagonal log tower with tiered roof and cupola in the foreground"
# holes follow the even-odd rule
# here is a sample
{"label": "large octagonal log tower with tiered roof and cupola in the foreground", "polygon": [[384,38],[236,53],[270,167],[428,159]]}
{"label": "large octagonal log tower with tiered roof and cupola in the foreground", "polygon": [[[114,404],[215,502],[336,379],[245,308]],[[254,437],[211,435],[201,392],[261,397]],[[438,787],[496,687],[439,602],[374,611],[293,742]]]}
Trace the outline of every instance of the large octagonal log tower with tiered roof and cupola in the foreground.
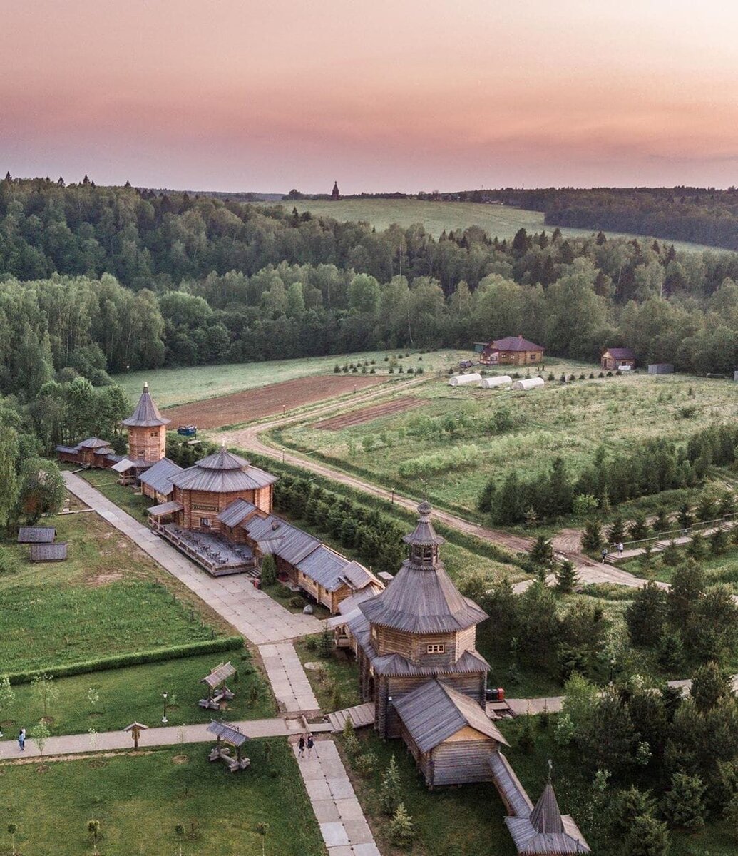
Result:
{"label": "large octagonal log tower with tiered roof and cupola in the foreground", "polygon": [[431,506],[421,502],[418,513],[418,525],[404,538],[409,558],[390,585],[360,603],[348,620],[356,639],[361,699],[374,702],[374,727],[384,738],[401,734],[397,699],[431,678],[485,704],[490,665],[475,645],[476,626],[487,616],[446,573],[438,554],[444,542],[431,524]]}

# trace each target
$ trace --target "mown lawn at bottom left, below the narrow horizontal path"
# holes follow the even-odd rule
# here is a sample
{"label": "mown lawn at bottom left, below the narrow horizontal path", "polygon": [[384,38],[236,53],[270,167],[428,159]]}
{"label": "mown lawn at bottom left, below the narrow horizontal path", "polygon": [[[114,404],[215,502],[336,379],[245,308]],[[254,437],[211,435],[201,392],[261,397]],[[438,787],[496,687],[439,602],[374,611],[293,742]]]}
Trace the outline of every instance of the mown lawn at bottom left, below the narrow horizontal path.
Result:
{"label": "mown lawn at bottom left, below the narrow horizontal path", "polygon": [[[246,748],[252,766],[236,774],[208,762],[208,744],[3,766],[0,853],[10,853],[8,823],[17,824],[15,843],[23,856],[92,853],[92,818],[100,823],[98,849],[104,856],[174,856],[177,824],[186,830],[183,854],[261,856],[264,843],[268,856],[323,856],[318,823],[287,741],[254,740]],[[263,841],[259,823],[268,824]]]}

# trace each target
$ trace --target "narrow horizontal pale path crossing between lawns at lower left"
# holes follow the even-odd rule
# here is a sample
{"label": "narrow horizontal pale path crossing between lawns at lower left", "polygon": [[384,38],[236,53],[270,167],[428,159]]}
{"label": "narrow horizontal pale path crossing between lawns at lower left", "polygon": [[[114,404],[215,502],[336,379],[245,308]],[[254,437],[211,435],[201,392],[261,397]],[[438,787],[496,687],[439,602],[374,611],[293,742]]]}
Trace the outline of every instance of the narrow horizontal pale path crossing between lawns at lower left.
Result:
{"label": "narrow horizontal pale path crossing between lawns at lower left", "polygon": [[[302,723],[295,719],[249,719],[244,722],[229,722],[241,728],[249,737],[289,737],[299,734]],[[6,737],[8,734],[6,733]],[[162,726],[141,732],[139,748],[152,746],[176,746],[178,743],[213,743],[215,737],[208,734],[207,725]],[[50,737],[44,746],[44,757],[53,755],[77,755],[86,752],[109,752],[115,749],[133,749],[134,740],[125,731],[102,731],[100,734],[66,734]],[[17,758],[39,758],[40,752],[33,740],[27,738],[26,749],[21,752],[17,740],[0,741],[0,760]]]}

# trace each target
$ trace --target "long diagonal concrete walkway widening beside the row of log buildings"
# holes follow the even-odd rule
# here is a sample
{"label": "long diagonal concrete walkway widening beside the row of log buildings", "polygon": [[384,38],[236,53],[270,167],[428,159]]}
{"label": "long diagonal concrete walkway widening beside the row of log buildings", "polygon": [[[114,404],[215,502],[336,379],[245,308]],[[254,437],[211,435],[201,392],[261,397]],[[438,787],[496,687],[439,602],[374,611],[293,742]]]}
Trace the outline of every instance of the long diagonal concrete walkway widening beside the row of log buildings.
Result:
{"label": "long diagonal concrete walkway widening beside the row of log buildings", "polygon": [[295,615],[264,591],[255,589],[246,574],[211,577],[84,479],[74,473],[64,472],[62,475],[70,493],[138,544],[141,550],[194,591],[250,642],[256,645],[282,642],[307,633],[320,633],[323,629],[323,623],[312,615]]}

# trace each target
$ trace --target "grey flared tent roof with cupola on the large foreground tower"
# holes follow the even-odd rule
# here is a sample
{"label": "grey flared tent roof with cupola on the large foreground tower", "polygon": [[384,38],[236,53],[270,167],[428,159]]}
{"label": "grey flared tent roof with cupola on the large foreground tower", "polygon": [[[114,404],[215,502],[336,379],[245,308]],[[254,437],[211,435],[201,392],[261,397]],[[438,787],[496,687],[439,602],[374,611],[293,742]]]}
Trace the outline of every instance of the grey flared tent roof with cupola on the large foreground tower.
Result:
{"label": "grey flared tent roof with cupola on the large foreground tower", "polygon": [[[429,520],[431,507],[421,502],[418,512],[418,526],[405,540],[413,546],[437,544],[438,536]],[[423,564],[416,564],[412,556],[402,562],[392,584],[361,603],[359,609],[372,624],[405,633],[453,633],[487,617],[456,588],[437,556]]]}

